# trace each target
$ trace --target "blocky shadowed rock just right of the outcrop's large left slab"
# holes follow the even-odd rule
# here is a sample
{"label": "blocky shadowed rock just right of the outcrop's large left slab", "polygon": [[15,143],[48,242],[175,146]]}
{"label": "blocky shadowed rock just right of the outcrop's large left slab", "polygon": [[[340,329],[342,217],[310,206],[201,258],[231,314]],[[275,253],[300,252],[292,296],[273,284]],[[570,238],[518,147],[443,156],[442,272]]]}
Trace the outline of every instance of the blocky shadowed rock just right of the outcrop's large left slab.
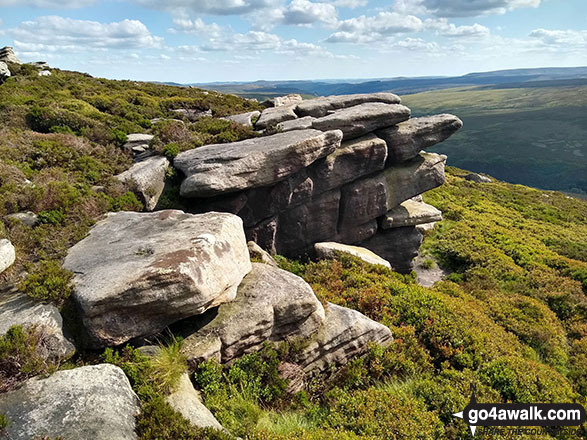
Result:
{"label": "blocky shadowed rock just right of the outcrop's large left slab", "polygon": [[309,171],[315,193],[337,188],[385,167],[387,146],[373,134],[342,143]]}

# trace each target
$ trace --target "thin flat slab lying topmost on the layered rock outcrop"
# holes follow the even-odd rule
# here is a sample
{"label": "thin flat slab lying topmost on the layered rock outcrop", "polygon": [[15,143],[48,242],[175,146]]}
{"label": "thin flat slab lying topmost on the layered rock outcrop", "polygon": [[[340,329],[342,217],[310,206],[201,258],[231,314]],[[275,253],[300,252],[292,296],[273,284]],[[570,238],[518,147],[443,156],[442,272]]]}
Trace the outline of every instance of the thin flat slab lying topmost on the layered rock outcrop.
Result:
{"label": "thin flat slab lying topmost on the layered rock outcrop", "polygon": [[401,99],[393,93],[366,93],[355,95],[327,96],[310,99],[297,105],[295,111],[299,116],[313,116],[321,118],[335,110],[354,107],[367,102],[383,102],[385,104],[399,104]]}

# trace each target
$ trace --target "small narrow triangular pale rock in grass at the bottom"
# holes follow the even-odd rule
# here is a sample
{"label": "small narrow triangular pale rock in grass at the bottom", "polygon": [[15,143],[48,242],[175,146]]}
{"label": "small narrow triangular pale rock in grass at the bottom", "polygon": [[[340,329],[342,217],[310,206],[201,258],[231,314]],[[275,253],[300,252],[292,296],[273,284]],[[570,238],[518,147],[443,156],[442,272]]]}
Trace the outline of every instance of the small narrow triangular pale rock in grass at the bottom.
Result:
{"label": "small narrow triangular pale rock in grass at the bottom", "polygon": [[165,401],[194,426],[226,431],[206,408],[200,393],[194,389],[187,373],[181,375],[175,389],[165,398]]}

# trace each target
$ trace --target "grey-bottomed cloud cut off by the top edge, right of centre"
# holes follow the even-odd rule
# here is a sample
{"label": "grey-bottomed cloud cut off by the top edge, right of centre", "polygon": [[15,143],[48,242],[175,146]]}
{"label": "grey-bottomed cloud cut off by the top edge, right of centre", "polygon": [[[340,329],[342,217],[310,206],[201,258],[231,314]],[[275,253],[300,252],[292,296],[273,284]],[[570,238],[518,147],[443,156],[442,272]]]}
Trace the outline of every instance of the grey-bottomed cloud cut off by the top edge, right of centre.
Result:
{"label": "grey-bottomed cloud cut off by the top edge, right of centre", "polygon": [[505,14],[518,8],[536,8],[541,0],[397,0],[394,10],[402,13],[429,13],[438,17],[476,17]]}

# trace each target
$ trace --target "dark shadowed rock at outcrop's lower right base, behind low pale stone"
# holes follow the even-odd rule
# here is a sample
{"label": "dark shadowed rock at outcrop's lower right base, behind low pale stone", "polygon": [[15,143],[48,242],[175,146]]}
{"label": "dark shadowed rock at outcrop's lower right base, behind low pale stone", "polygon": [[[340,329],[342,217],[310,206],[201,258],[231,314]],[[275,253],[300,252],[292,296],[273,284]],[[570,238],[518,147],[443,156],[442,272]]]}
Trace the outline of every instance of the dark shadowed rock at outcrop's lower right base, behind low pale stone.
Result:
{"label": "dark shadowed rock at outcrop's lower right base, behind low pale stone", "polygon": [[413,260],[418,256],[422,233],[414,226],[380,230],[370,239],[359,244],[389,261],[400,273],[411,272]]}

